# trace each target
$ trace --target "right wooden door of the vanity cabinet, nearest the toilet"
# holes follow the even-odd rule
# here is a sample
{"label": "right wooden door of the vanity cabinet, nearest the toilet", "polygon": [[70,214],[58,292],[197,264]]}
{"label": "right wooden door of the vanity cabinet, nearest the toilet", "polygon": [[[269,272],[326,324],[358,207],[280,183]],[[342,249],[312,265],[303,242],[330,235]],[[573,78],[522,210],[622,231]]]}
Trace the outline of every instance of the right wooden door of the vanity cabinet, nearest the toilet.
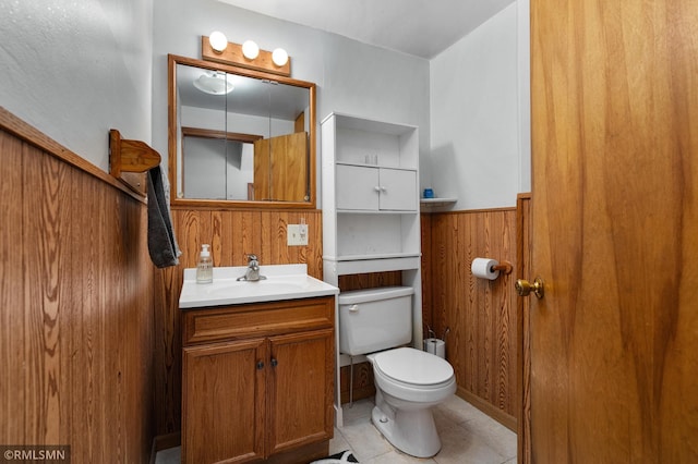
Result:
{"label": "right wooden door of the vanity cabinet, nearest the toilet", "polygon": [[329,440],[334,432],[334,330],[273,337],[269,346],[269,454]]}

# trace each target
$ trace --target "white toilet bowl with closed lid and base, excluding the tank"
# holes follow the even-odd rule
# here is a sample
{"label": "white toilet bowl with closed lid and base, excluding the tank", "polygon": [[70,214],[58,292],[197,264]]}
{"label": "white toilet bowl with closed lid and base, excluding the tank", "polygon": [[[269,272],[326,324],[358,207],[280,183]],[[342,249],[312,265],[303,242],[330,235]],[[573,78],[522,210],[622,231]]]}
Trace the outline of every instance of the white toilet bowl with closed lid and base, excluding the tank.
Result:
{"label": "white toilet bowl with closed lid and base, excluding the tank", "polygon": [[456,392],[454,369],[445,359],[411,347],[366,356],[376,387],[371,419],[398,450],[431,457],[441,450],[432,406]]}

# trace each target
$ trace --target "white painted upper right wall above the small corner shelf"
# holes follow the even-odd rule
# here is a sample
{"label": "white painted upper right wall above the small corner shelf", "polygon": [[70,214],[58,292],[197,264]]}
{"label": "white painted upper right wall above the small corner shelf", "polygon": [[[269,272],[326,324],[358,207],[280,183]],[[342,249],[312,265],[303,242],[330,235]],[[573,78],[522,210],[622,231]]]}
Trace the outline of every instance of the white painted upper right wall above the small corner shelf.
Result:
{"label": "white painted upper right wall above the small corner shelf", "polygon": [[520,132],[528,66],[519,62],[528,49],[528,30],[519,36],[528,8],[519,3],[431,61],[431,184],[436,196],[458,198],[454,209],[514,206],[517,193],[530,188]]}

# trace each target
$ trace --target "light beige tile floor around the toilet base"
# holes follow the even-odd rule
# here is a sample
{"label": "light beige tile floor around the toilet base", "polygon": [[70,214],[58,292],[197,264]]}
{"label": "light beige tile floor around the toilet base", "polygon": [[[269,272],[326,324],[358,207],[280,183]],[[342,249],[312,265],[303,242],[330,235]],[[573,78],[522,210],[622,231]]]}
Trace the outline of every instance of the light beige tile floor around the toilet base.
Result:
{"label": "light beige tile floor around the toilet base", "polygon": [[[393,448],[371,424],[372,400],[345,405],[345,424],[335,429],[330,454],[352,450],[361,464],[516,464],[516,434],[453,396],[434,408],[442,449],[434,457],[417,459]],[[179,464],[180,449],[163,450],[156,464]]]}

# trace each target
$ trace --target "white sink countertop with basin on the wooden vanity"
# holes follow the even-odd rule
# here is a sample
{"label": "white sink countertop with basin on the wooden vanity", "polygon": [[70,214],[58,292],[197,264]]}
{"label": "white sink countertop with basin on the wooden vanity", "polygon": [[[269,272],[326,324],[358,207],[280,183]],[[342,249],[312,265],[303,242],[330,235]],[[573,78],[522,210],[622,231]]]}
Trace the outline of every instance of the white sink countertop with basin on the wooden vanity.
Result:
{"label": "white sink countertop with basin on the wooden vanity", "polygon": [[213,283],[196,283],[196,269],[184,269],[180,308],[238,305],[337,295],[339,289],[308,276],[305,265],[261,266],[266,279],[238,280],[246,267],[214,268]]}

